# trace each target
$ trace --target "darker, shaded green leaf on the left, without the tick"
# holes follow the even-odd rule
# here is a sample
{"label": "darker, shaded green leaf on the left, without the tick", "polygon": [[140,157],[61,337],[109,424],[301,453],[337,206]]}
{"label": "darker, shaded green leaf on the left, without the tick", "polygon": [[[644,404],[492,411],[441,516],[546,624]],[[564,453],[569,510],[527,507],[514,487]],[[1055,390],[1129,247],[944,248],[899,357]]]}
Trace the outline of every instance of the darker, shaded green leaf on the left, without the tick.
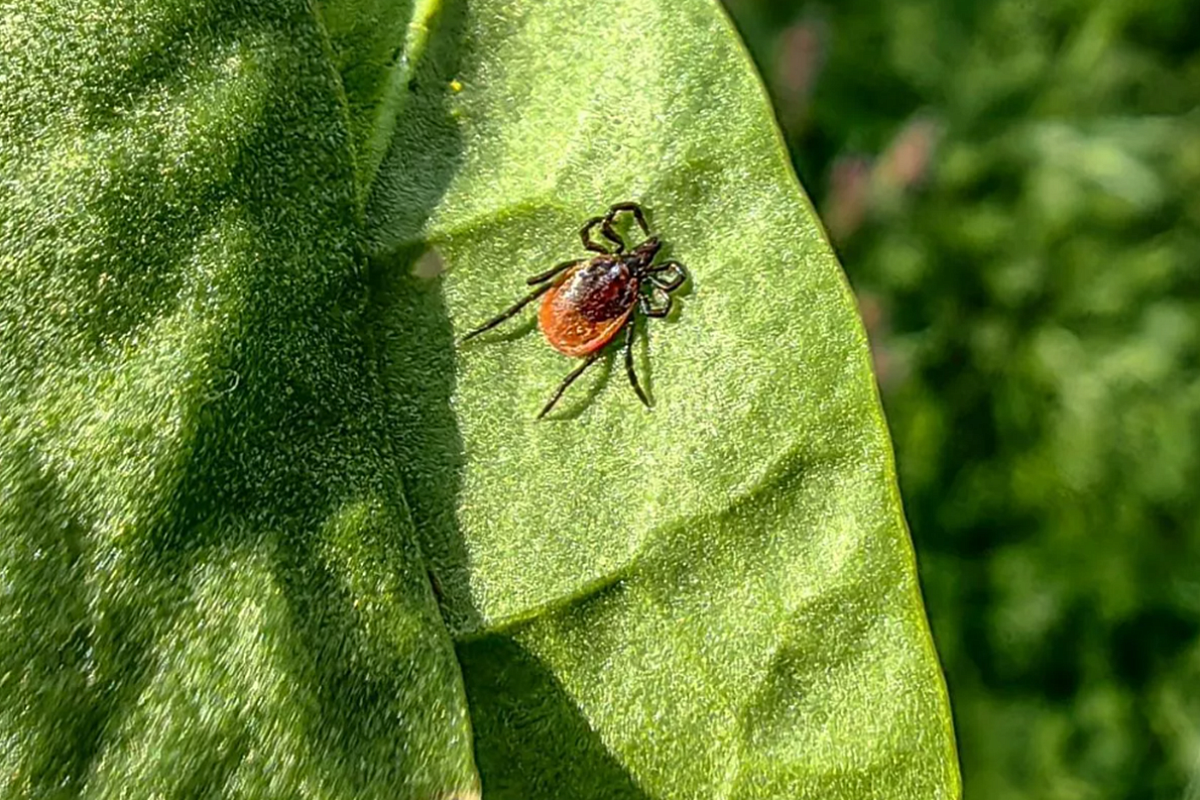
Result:
{"label": "darker, shaded green leaf on the left, without the tick", "polygon": [[472,790],[312,11],[0,20],[0,795]]}

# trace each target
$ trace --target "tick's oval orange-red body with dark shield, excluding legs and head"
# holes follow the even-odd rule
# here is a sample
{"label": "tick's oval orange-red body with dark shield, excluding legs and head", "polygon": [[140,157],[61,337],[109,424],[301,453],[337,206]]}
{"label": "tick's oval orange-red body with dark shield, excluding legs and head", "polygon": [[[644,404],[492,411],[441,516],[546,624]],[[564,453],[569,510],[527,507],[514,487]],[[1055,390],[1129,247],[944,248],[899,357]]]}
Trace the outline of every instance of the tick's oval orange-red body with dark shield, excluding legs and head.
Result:
{"label": "tick's oval orange-red body with dark shield, excluding legs and head", "polygon": [[601,255],[574,266],[541,297],[541,332],[563,355],[595,353],[624,327],[637,305],[637,288],[619,258]]}

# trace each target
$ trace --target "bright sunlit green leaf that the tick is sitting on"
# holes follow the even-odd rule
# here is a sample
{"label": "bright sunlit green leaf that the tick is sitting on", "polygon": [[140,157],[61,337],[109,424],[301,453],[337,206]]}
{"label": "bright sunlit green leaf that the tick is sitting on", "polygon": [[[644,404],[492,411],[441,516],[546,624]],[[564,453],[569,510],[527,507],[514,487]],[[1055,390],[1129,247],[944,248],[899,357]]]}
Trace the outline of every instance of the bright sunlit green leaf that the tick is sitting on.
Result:
{"label": "bright sunlit green leaf that the tick is sitting on", "polygon": [[[442,17],[367,205],[372,313],[485,795],[958,796],[865,337],[728,22]],[[574,362],[532,313],[455,336],[624,199],[692,273],[642,331],[656,405],[610,360],[536,422]]]}

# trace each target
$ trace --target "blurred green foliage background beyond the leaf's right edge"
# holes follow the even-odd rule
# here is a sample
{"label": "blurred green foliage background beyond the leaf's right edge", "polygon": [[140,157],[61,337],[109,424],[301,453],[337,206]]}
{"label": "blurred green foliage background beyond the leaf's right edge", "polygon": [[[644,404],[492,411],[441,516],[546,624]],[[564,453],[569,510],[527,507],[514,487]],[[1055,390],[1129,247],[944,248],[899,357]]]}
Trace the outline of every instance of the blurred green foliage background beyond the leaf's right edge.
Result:
{"label": "blurred green foliage background beyond the leaf's right edge", "polygon": [[726,4],[872,335],[967,799],[1200,798],[1200,6]]}

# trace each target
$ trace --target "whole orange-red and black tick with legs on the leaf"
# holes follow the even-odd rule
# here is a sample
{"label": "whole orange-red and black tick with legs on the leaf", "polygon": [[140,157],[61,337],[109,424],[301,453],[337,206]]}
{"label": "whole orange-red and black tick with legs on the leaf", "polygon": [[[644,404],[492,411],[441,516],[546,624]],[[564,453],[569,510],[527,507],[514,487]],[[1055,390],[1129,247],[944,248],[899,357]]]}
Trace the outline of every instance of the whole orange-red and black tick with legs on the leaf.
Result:
{"label": "whole orange-red and black tick with legs on the leaf", "polygon": [[[634,221],[646,235],[646,241],[632,249],[613,228],[618,213],[634,215]],[[596,228],[611,242],[606,247],[593,240]],[[634,330],[637,315],[666,317],[671,313],[671,293],[688,279],[688,269],[679,261],[654,264],[662,248],[658,236],[650,235],[646,213],[636,203],[618,203],[602,217],[592,217],[580,229],[583,248],[599,253],[590,258],[563,261],[526,281],[538,287],[511,308],[487,320],[462,337],[469,338],[488,331],[530,302],[541,297],[538,323],[550,345],[583,363],[572,369],[558,385],[538,419],[546,416],[568,386],[600,357],[600,351],[623,331],[625,335],[625,374],[638,399],[650,408],[634,371]]]}

